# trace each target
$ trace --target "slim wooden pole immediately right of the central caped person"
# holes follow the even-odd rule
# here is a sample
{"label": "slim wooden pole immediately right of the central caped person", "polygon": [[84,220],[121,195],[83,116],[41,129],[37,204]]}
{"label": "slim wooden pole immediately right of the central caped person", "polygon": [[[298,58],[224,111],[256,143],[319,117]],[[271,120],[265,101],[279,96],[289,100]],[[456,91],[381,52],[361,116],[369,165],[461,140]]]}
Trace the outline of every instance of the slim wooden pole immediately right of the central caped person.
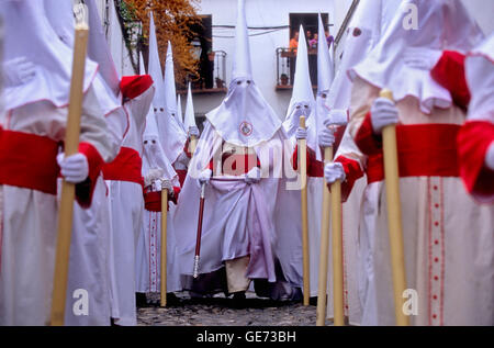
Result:
{"label": "slim wooden pole immediately right of the central caped person", "polygon": [[[300,126],[305,128],[305,116],[300,117]],[[311,296],[311,270],[308,263],[308,220],[307,220],[307,141],[299,139],[299,170],[301,178],[302,250],[303,250],[303,304],[308,305]]]}

